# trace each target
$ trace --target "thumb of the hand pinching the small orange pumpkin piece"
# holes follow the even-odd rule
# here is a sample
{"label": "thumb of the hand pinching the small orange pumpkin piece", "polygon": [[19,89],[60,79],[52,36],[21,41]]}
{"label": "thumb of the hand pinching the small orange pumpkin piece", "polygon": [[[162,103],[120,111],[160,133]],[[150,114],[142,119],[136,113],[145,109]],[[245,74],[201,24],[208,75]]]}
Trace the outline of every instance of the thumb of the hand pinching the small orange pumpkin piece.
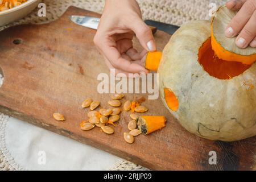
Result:
{"label": "thumb of the hand pinching the small orange pumpkin piece", "polygon": [[156,43],[151,28],[141,18],[133,20],[133,23],[130,23],[128,28],[135,32],[144,49],[147,51],[156,51]]}

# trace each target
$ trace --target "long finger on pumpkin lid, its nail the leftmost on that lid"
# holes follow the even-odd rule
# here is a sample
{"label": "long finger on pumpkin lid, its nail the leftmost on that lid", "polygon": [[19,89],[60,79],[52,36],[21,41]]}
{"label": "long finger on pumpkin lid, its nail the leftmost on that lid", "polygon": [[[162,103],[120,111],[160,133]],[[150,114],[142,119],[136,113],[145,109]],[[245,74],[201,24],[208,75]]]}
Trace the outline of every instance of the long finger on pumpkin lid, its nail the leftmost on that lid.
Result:
{"label": "long finger on pumpkin lid, its nail the leftmost on that lid", "polygon": [[[238,11],[236,16],[234,16],[234,18],[226,27],[226,30],[225,30],[226,37],[233,38],[234,36],[236,36],[242,30],[242,28],[245,27],[245,24],[248,22],[251,15],[253,15],[255,8],[256,8],[255,0],[245,1],[240,11]],[[255,19],[254,19],[254,23],[255,23]]]}

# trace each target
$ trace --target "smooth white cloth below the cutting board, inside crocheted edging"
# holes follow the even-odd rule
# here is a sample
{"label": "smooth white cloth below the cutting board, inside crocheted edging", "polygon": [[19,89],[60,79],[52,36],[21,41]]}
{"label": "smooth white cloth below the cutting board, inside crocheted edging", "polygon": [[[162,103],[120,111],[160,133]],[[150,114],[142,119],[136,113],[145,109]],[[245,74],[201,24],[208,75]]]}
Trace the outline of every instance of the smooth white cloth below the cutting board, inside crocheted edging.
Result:
{"label": "smooth white cloth below the cutting board, inside crocheted edging", "polygon": [[27,170],[109,170],[121,160],[12,117],[6,122],[5,145],[15,163]]}

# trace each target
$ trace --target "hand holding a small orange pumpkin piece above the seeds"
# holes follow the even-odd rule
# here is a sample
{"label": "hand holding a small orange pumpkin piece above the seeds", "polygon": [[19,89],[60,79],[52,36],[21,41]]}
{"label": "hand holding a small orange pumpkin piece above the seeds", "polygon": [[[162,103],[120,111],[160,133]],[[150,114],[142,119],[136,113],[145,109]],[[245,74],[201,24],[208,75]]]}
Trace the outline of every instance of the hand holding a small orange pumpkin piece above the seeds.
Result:
{"label": "hand holding a small orange pumpkin piece above the seeds", "polygon": [[[133,48],[136,34],[144,50]],[[151,29],[143,22],[141,10],[135,0],[106,0],[94,43],[115,73],[147,73],[142,59],[147,51],[155,51]]]}

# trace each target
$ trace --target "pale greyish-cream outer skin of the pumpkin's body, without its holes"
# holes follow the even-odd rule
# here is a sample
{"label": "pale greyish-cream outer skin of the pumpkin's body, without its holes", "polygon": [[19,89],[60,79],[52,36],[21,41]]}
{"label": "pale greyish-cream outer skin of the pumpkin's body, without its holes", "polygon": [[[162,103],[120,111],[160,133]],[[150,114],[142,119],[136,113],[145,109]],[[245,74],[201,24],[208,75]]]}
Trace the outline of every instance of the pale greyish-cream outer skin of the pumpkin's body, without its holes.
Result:
{"label": "pale greyish-cream outer skin of the pumpkin's body, without its holes", "polygon": [[[179,28],[164,48],[158,68],[164,105],[189,132],[210,140],[234,141],[256,135],[256,64],[230,80],[210,76],[199,63],[210,22],[197,20]],[[250,82],[248,89],[244,82]],[[179,101],[172,111],[164,98],[171,89]]]}

